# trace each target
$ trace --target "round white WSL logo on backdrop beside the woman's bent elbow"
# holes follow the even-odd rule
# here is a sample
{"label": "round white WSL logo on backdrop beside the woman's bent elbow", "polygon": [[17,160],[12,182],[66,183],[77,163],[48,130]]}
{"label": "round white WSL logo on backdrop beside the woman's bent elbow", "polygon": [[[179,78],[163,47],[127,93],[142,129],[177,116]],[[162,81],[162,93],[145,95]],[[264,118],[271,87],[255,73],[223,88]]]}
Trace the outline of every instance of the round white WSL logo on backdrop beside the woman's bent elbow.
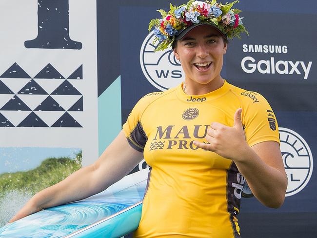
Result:
{"label": "round white WSL logo on backdrop beside the woman's bent elbow", "polygon": [[279,128],[280,149],[288,178],[286,197],[297,194],[313,173],[313,156],[307,142],[295,131]]}

